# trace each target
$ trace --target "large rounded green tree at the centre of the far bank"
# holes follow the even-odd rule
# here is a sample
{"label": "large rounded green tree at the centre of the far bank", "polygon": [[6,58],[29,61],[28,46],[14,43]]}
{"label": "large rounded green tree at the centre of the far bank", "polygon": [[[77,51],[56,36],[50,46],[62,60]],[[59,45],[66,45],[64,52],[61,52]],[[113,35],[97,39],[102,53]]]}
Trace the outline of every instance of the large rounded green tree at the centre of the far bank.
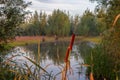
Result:
{"label": "large rounded green tree at the centre of the far bank", "polygon": [[70,34],[69,16],[58,10],[54,10],[48,17],[47,32],[51,35],[68,36]]}

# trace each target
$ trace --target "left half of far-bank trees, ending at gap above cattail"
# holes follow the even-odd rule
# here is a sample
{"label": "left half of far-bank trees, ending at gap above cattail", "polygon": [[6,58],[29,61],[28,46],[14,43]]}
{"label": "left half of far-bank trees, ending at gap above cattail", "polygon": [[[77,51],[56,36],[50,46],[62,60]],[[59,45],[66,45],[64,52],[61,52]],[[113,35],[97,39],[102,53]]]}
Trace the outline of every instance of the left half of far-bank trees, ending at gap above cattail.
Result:
{"label": "left half of far-bank trees, ending at gap above cattail", "polygon": [[28,23],[22,25],[24,32],[22,35],[58,35],[68,36],[70,34],[69,16],[58,10],[54,10],[51,15],[44,12],[38,14],[37,11],[30,16]]}

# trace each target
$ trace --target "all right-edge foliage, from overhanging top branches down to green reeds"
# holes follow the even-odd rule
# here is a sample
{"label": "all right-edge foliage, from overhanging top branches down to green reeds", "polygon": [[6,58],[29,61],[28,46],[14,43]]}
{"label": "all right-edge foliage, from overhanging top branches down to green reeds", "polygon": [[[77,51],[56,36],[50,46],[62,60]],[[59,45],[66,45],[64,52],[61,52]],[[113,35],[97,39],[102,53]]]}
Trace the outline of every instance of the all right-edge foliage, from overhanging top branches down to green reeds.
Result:
{"label": "all right-edge foliage, from overhanging top branches down to green reeds", "polygon": [[[119,15],[119,0],[91,0],[97,1],[99,5],[96,7],[97,16],[104,16],[102,19],[108,30],[103,33],[101,45],[97,46],[93,51],[93,71],[97,80],[106,78],[108,80],[118,80],[120,78],[120,21],[118,20],[113,26],[115,16]],[[103,14],[103,10],[105,11]],[[102,11],[101,11],[102,10]],[[101,14],[101,15],[100,15]],[[116,17],[118,18],[118,16]],[[99,19],[98,19],[99,20]],[[101,20],[101,19],[100,19]],[[117,20],[117,19],[116,19]],[[115,21],[114,21],[115,22]],[[111,28],[112,27],[112,28]],[[104,28],[104,27],[103,27]],[[90,60],[90,55],[89,55]],[[88,61],[89,62],[89,61]]]}

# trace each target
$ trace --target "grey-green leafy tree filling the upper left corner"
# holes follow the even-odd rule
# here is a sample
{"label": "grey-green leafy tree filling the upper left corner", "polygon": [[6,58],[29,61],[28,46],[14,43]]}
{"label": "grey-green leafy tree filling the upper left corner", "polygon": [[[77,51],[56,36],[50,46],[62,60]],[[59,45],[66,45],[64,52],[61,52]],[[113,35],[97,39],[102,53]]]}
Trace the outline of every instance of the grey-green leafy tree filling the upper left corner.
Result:
{"label": "grey-green leafy tree filling the upper left corner", "polygon": [[0,46],[15,37],[28,13],[25,9],[29,4],[23,0],[0,0]]}

